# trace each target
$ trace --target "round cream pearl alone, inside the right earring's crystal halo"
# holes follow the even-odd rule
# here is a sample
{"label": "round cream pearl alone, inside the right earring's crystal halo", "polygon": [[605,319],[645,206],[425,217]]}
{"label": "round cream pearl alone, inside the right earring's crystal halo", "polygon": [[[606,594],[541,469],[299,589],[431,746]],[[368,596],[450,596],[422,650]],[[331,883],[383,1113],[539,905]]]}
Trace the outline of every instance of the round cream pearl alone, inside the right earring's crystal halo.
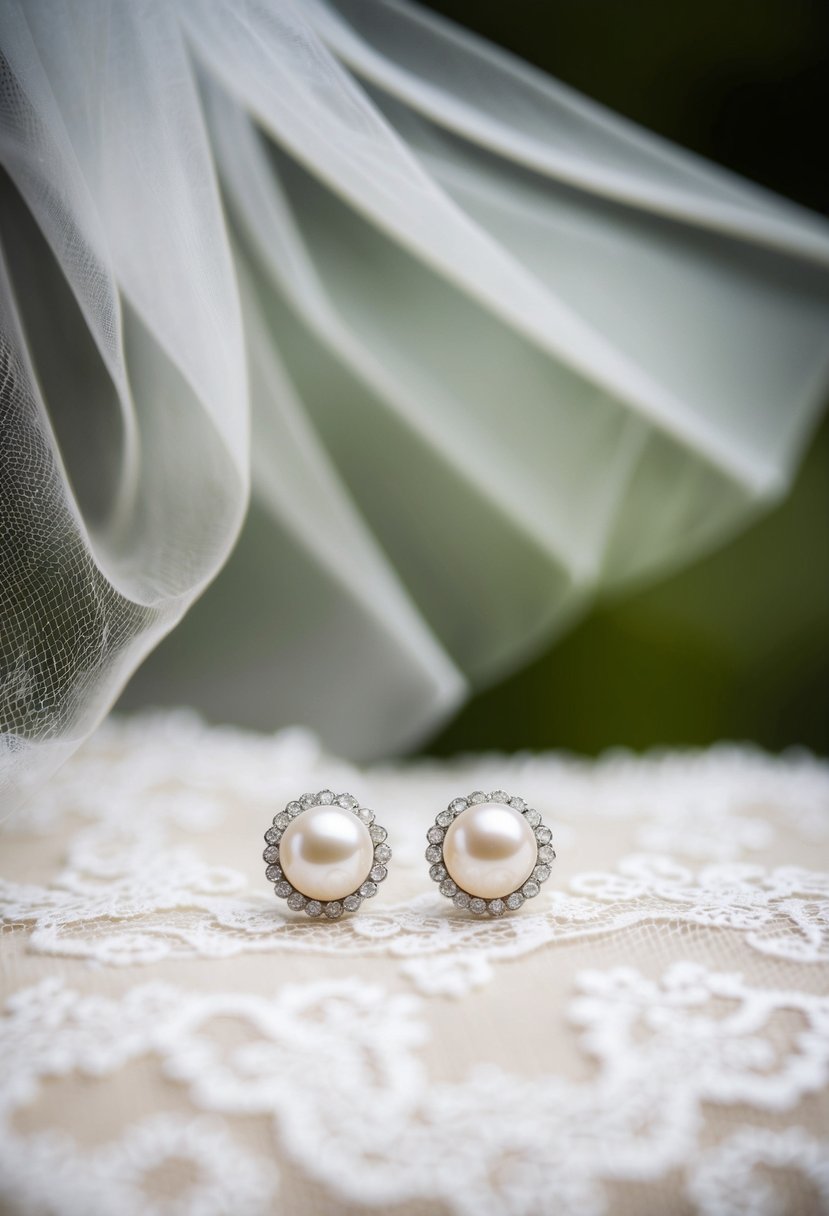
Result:
{"label": "round cream pearl alone, inside the right earring's crystal halo", "polygon": [[444,865],[469,895],[495,900],[518,890],[537,860],[532,828],[513,806],[479,803],[462,811],[444,839]]}

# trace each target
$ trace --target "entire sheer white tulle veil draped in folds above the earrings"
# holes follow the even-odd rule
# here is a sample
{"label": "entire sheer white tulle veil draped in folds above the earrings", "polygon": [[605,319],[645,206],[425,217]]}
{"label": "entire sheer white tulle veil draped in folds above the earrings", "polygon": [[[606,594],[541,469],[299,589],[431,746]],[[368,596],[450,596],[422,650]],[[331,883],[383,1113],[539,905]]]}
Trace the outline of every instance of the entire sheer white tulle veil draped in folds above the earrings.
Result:
{"label": "entire sheer white tulle veil draped in folds above the earrings", "polygon": [[397,0],[0,24],[6,801],[185,613],[134,699],[388,754],[789,486],[811,213]]}

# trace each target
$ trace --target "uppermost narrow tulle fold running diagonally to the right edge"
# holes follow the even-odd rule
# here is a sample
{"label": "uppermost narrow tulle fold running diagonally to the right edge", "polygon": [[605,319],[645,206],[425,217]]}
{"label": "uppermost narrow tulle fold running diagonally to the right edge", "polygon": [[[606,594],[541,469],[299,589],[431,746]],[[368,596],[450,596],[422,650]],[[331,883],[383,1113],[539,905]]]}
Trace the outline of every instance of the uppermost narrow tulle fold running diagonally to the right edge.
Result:
{"label": "uppermost narrow tulle fold running diagonally to the right edge", "polygon": [[309,0],[361,79],[513,164],[655,214],[829,259],[817,218],[401,0]]}

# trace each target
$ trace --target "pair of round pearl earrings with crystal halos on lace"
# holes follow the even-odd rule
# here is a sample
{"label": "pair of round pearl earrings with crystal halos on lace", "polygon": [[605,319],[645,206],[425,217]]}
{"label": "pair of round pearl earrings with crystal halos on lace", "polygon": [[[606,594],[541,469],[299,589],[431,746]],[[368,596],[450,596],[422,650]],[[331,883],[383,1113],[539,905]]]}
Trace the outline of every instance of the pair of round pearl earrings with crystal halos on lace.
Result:
{"label": "pair of round pearl earrings with crystal halos on lace", "polygon": [[[377,895],[388,832],[351,794],[303,794],[265,833],[265,876],[294,912],[337,921]],[[456,907],[503,916],[538,894],[556,857],[552,832],[502,789],[455,798],[427,833],[429,877]]]}

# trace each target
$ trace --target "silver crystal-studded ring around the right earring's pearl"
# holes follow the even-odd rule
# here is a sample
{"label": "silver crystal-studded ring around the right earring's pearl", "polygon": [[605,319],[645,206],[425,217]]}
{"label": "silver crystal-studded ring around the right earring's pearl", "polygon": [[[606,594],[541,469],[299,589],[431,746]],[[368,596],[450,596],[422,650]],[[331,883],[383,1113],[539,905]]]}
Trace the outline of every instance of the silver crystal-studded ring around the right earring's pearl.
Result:
{"label": "silver crystal-studded ring around the right earring's pearl", "polygon": [[[481,803],[500,803],[504,806],[512,806],[513,810],[523,815],[532,828],[537,848],[536,865],[526,882],[517,890],[495,900],[484,900],[479,895],[473,895],[472,891],[462,890],[450,877],[444,860],[446,829],[469,806],[479,806]],[[453,798],[446,810],[438,814],[434,824],[427,832],[429,848],[425,851],[425,860],[429,862],[429,878],[433,883],[438,883],[440,894],[463,912],[470,912],[476,917],[501,917],[509,912],[517,912],[528,900],[535,899],[541,890],[541,884],[546,883],[552,873],[552,862],[556,860],[552,839],[553,833],[542,823],[541,815],[535,807],[528,806],[523,798],[513,798],[503,789],[494,789],[491,794],[484,794],[480,789],[475,789],[466,798]]]}

